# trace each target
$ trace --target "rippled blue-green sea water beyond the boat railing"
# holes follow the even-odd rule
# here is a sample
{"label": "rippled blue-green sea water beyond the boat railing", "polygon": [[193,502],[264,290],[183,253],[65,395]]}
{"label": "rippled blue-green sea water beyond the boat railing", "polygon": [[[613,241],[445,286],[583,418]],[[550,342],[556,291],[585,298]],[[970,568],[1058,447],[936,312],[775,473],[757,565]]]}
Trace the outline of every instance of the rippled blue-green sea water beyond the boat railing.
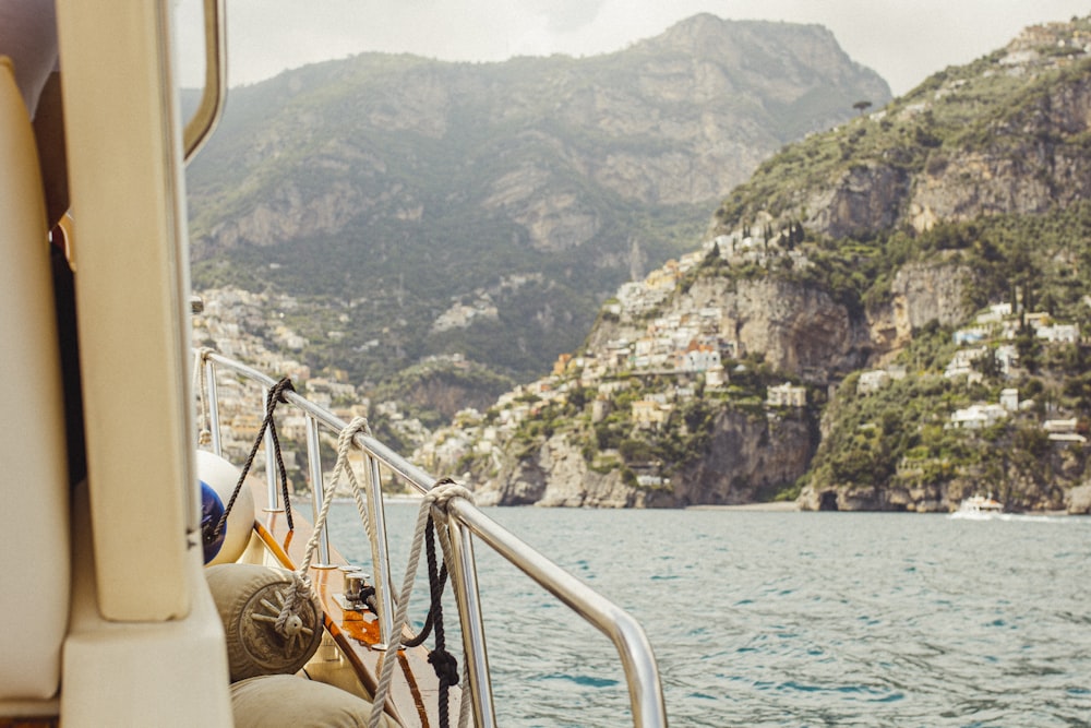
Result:
{"label": "rippled blue-green sea water beyond the boat railing", "polygon": [[[396,583],[416,513],[386,508]],[[1091,726],[1091,520],[485,513],[640,621],[671,726]],[[355,508],[331,517],[367,562]],[[499,725],[631,725],[609,640],[476,554]]]}

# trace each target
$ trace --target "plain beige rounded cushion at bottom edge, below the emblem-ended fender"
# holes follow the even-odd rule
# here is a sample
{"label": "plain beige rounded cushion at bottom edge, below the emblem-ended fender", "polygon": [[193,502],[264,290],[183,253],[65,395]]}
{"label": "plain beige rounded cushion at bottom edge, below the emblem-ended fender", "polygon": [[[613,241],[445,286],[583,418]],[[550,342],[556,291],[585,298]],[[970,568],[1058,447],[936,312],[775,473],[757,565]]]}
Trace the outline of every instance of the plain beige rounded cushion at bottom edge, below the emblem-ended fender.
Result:
{"label": "plain beige rounded cushion at bottom edge, below the emblem-ended fender", "polygon": [[[236,728],[364,728],[371,703],[291,675],[250,678],[231,685]],[[383,716],[381,726],[394,724]]]}

